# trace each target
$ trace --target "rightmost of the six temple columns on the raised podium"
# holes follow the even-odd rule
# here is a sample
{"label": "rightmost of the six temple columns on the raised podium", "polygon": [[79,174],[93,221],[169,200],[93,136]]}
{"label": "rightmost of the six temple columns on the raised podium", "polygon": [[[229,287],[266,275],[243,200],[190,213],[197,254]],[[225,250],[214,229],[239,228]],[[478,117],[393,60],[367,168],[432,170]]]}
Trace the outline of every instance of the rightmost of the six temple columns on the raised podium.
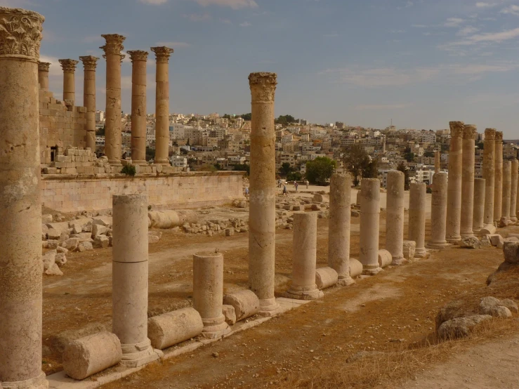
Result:
{"label": "rightmost of the six temple columns on the raised podium", "polygon": [[173,48],[152,47],[157,58],[155,98],[155,164],[169,166],[169,56]]}

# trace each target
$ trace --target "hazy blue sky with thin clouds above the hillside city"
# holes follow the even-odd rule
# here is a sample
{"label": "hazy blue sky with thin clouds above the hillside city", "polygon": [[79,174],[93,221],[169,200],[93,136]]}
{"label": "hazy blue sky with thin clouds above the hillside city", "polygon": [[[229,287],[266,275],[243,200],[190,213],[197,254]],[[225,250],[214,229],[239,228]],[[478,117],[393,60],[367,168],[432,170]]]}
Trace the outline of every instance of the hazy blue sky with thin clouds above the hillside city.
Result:
{"label": "hazy blue sky with thin clouds above the hillside city", "polygon": [[[384,128],[450,120],[519,138],[519,0],[0,0],[42,13],[43,60],[61,98],[58,58],[166,45],[171,112],[250,112],[250,72],[277,72],[276,114]],[[155,109],[155,55],[148,112]],[[105,62],[98,65],[98,109]],[[83,71],[76,73],[82,102]],[[122,66],[131,110],[131,62]]]}

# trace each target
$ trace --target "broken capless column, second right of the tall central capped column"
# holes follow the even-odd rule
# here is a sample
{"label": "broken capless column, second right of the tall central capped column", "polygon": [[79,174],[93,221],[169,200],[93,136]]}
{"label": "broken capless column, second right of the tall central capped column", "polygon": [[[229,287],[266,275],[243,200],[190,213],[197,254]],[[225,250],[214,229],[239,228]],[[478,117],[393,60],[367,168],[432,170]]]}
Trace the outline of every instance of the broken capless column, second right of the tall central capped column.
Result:
{"label": "broken capless column, second right of the tall central capped column", "polygon": [[339,275],[339,285],[353,284],[350,277],[351,176],[333,174],[330,180],[328,265]]}

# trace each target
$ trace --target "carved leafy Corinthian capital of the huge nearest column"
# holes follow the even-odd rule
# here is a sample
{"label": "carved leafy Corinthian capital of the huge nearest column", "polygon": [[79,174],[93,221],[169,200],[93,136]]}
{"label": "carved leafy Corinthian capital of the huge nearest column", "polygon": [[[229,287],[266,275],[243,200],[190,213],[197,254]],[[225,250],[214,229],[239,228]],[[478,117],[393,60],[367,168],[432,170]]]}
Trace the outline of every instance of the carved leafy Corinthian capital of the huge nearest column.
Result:
{"label": "carved leafy Corinthian capital of the huge nearest column", "polygon": [[39,60],[44,20],[33,11],[0,7],[0,57],[22,55],[29,60]]}

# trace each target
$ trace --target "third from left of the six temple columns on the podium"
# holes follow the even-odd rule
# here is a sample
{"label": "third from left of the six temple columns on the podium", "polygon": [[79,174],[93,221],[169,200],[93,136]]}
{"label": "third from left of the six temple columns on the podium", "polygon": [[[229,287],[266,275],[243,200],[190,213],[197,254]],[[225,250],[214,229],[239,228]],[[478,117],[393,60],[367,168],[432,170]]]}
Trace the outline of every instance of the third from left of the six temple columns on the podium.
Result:
{"label": "third from left of the six temple columns on the podium", "polygon": [[84,66],[83,105],[86,107],[86,147],[96,152],[96,66],[99,58],[79,57]]}

